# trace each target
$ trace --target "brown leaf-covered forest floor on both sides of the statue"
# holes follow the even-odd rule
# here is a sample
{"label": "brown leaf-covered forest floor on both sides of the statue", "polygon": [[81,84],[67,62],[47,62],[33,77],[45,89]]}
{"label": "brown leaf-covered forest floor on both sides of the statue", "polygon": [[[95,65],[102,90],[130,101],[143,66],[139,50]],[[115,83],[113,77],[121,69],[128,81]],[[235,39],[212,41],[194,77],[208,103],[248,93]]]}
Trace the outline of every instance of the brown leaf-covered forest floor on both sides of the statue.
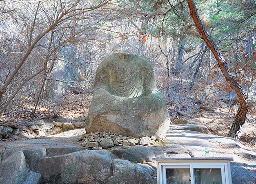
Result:
{"label": "brown leaf-covered forest floor on both sides of the statue", "polygon": [[[57,117],[66,122],[82,122],[87,117],[91,100],[92,95],[67,94],[58,99],[58,101],[49,101],[48,104],[40,104],[36,110],[35,118],[32,119],[31,112],[33,112],[34,101],[31,97],[27,97],[19,105],[16,105],[18,108],[5,111],[1,114],[0,124],[7,124],[8,119],[14,119],[21,126],[28,127],[26,122],[40,119],[50,122],[53,118]],[[238,104],[231,104],[223,100],[219,100],[212,105],[208,104],[207,106],[190,104],[167,104],[171,121],[174,123],[179,118],[186,118],[190,123],[205,125],[211,131],[211,134],[227,136],[237,112]],[[10,140],[26,138],[26,134],[19,135],[11,137]],[[247,115],[247,122],[243,128],[240,142],[246,147],[256,149],[255,110],[249,111]]]}

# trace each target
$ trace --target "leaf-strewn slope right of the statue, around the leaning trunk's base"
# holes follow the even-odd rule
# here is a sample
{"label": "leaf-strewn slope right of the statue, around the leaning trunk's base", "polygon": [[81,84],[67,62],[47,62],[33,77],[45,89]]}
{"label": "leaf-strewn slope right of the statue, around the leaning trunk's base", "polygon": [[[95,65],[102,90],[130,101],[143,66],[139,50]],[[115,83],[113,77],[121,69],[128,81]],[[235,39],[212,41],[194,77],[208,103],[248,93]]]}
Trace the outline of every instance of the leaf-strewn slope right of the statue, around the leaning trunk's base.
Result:
{"label": "leaf-strewn slope right of the statue, around the leaning trunk's base", "polygon": [[[256,149],[256,111],[255,106],[250,108],[247,115],[247,121],[243,127],[240,142],[248,148]],[[177,106],[169,107],[169,113],[172,115],[171,120],[174,122],[178,118],[186,118],[196,125],[205,125],[211,134],[218,136],[227,136],[236,112],[238,104],[231,105],[229,102],[219,101],[215,105],[200,106],[196,109],[181,108]],[[181,113],[181,114],[180,114]]]}

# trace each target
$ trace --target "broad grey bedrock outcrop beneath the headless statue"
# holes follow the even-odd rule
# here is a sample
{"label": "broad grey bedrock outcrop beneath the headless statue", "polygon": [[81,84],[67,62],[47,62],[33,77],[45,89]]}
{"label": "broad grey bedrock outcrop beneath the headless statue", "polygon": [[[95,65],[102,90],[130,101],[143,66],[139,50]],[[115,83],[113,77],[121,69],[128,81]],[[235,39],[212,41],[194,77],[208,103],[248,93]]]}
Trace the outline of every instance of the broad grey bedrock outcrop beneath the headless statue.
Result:
{"label": "broad grey bedrock outcrop beneath the headless statue", "polygon": [[[173,124],[162,139],[128,138],[107,132],[84,133],[82,128],[50,137],[1,141],[0,183],[156,184],[153,158],[164,155],[167,158],[204,158],[205,147],[209,148],[210,157],[234,159],[231,162],[233,184],[256,182],[256,150],[232,138],[210,134],[205,126]],[[86,146],[90,143],[88,140],[94,139],[95,143],[98,138],[100,143],[111,140],[111,144],[107,141],[100,144],[101,148]],[[130,143],[129,139],[137,145],[120,145]],[[113,147],[115,140],[120,144]]]}

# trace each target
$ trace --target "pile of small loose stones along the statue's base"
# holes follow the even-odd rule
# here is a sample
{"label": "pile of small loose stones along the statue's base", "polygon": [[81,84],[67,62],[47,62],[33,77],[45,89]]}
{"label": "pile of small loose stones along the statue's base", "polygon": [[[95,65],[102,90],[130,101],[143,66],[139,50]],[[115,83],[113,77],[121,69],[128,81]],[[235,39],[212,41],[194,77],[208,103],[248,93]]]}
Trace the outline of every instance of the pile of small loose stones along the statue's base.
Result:
{"label": "pile of small loose stones along the statue's base", "polygon": [[134,146],[134,145],[144,145],[149,146],[163,141],[160,136],[151,136],[134,138],[131,136],[117,136],[116,134],[111,134],[110,132],[97,131],[91,134],[84,134],[80,138],[83,147],[88,147],[91,149],[106,149],[115,146]]}

